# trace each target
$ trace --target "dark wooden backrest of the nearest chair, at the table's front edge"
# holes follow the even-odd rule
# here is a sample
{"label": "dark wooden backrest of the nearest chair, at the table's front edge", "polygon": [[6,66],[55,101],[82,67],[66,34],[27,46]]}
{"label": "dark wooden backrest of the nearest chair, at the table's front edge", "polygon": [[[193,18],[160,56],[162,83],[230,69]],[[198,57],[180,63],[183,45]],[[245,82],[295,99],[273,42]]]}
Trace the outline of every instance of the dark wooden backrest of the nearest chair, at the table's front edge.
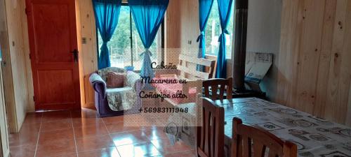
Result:
{"label": "dark wooden backrest of the nearest chair, at the table's front edge", "polygon": [[261,130],[242,124],[241,119],[233,119],[232,157],[296,157],[297,147],[289,141]]}

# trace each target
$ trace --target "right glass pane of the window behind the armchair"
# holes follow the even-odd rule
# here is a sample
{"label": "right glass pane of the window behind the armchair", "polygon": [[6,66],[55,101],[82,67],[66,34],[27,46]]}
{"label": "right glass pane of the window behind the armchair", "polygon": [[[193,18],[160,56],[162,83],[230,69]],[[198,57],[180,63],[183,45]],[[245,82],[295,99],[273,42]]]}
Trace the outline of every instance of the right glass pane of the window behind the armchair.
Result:
{"label": "right glass pane of the window behind the armchair", "polygon": [[[133,16],[132,16],[133,18]],[[161,27],[159,28],[159,31],[157,32],[156,37],[154,38],[154,43],[152,43],[150,47],[150,52],[152,53],[151,61],[156,62],[157,61],[157,56],[160,54],[161,51],[161,43],[158,43],[158,39],[161,38],[160,35],[160,30]],[[134,20],[132,20],[132,33],[133,33],[133,66],[134,70],[141,70],[141,66],[143,65],[143,56],[140,56],[141,53],[145,51],[143,42],[140,39],[138,30],[135,27]]]}

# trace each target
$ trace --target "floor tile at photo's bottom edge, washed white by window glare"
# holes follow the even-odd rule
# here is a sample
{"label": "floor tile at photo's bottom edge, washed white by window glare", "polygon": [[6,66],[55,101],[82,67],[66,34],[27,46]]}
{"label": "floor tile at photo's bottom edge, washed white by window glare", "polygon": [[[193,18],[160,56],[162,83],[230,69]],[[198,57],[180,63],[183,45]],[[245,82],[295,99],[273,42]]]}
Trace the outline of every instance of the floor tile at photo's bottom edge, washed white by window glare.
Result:
{"label": "floor tile at photo's bottom edge, washed white by window glare", "polygon": [[159,156],[161,153],[150,142],[118,146],[121,157]]}

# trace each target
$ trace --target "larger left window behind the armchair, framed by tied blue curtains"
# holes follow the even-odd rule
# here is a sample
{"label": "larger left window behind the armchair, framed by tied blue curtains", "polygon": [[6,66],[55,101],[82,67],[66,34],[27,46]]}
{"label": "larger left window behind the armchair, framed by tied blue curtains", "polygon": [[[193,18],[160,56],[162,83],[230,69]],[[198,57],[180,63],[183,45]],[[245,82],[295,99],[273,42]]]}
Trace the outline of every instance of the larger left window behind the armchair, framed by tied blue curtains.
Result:
{"label": "larger left window behind the armchair, framed by tied blue curtains", "polygon": [[[150,47],[152,52],[151,61],[159,63],[157,56],[161,56],[161,28],[157,33],[154,43]],[[98,32],[99,54],[102,45],[102,38]],[[145,51],[140,40],[138,30],[135,27],[133,15],[129,6],[123,4],[119,13],[119,21],[110,42],[107,44],[110,50],[111,66],[124,68],[124,66],[134,66],[134,70],[140,70],[143,64],[141,53]]]}

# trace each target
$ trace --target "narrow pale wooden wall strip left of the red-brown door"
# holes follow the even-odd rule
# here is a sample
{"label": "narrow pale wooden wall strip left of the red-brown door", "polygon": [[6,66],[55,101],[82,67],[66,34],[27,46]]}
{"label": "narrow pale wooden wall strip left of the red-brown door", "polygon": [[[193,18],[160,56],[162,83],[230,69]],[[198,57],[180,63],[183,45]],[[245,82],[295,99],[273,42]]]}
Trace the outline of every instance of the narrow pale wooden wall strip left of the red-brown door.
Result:
{"label": "narrow pale wooden wall strip left of the red-brown door", "polygon": [[24,39],[22,17],[24,0],[5,0],[6,20],[1,33],[4,50],[4,89],[10,131],[17,132],[27,113],[29,95],[27,90],[27,43]]}

